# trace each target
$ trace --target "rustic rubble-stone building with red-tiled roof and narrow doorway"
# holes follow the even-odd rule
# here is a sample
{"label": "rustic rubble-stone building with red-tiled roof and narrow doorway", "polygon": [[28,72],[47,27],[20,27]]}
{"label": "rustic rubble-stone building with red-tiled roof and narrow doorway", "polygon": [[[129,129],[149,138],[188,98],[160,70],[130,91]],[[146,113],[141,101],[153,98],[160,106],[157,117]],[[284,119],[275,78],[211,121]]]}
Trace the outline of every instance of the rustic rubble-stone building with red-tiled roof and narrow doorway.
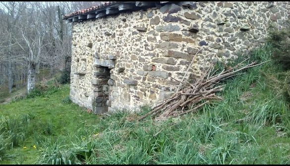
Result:
{"label": "rustic rubble-stone building with red-tiled roof and narrow doorway", "polygon": [[70,98],[95,113],[152,106],[176,91],[177,80],[265,43],[269,22],[281,28],[289,14],[289,2],[140,1],[65,15],[72,22]]}

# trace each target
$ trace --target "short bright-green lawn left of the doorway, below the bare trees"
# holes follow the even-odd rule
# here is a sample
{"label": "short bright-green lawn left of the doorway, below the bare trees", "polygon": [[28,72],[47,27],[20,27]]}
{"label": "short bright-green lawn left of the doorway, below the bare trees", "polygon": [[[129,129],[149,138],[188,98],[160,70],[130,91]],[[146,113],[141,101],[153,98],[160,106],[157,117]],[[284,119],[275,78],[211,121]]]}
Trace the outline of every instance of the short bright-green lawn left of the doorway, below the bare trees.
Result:
{"label": "short bright-green lawn left of the doorway, below the bare trees", "polygon": [[[16,157],[13,160],[3,161],[3,164],[17,164],[17,162],[31,164],[40,156],[39,148],[43,142],[73,135],[81,128],[98,122],[98,116],[88,114],[85,109],[75,104],[62,102],[64,99],[67,100],[69,85],[61,86],[56,92],[52,92],[54,91],[47,92],[49,95],[0,105],[0,115],[7,121],[21,120],[27,116],[33,117],[28,118],[25,124],[15,122],[18,126],[9,125],[22,131],[16,133],[23,133],[25,138],[19,139],[18,144],[7,151],[7,154],[13,154]],[[8,131],[11,131],[11,128]],[[34,149],[33,145],[36,145],[37,149]],[[23,147],[27,148],[23,149]]]}

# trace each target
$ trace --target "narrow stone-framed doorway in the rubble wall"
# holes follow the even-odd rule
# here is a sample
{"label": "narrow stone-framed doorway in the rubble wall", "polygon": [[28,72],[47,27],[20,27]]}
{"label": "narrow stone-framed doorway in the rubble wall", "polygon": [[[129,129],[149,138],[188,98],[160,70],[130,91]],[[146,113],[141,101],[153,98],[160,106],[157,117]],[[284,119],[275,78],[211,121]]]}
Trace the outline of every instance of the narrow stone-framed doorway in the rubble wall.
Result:
{"label": "narrow stone-framed doorway in the rubble wall", "polygon": [[[95,114],[101,114],[108,111],[108,100],[110,94],[110,69],[106,66],[96,65],[94,77],[92,80],[94,97],[92,101]],[[109,82],[109,83],[108,83]]]}

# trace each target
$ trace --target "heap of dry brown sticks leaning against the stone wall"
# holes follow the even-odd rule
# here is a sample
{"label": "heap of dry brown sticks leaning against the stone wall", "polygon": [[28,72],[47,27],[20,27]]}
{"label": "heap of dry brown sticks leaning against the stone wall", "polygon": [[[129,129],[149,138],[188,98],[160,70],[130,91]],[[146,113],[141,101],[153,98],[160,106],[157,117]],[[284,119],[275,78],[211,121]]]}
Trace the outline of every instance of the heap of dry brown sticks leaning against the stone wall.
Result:
{"label": "heap of dry brown sticks leaning against the stone wall", "polygon": [[[213,66],[210,66],[205,74],[195,81],[189,83],[187,81],[179,81],[182,83],[181,90],[177,90],[171,97],[157,104],[152,108],[152,111],[139,117],[138,120],[151,115],[154,117],[176,117],[189,112],[197,111],[213,100],[222,100],[221,97],[216,96],[216,92],[221,92],[225,85],[219,85],[219,83],[232,76],[238,75],[238,71],[246,68],[254,67],[263,63],[256,64],[251,62],[247,65],[243,65],[243,62],[248,58],[229,69],[224,69],[220,73],[215,74],[219,69],[214,70]],[[269,61],[269,60],[268,60]],[[186,73],[185,73],[186,74]],[[171,77],[173,78],[173,77]],[[173,78],[176,80],[175,78]],[[178,81],[178,80],[177,80]],[[190,106],[190,107],[189,107]]]}

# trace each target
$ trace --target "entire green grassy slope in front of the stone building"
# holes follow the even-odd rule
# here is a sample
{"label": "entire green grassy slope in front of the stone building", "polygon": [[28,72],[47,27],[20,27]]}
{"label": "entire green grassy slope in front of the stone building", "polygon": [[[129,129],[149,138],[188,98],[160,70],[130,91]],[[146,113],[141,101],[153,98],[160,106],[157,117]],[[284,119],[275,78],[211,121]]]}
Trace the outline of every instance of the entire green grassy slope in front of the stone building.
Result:
{"label": "entire green grassy slope in front of the stone building", "polygon": [[166,121],[136,121],[148,107],[93,115],[70,103],[69,85],[52,86],[0,105],[0,164],[289,164],[284,74],[272,61],[250,68],[224,82],[222,101]]}

